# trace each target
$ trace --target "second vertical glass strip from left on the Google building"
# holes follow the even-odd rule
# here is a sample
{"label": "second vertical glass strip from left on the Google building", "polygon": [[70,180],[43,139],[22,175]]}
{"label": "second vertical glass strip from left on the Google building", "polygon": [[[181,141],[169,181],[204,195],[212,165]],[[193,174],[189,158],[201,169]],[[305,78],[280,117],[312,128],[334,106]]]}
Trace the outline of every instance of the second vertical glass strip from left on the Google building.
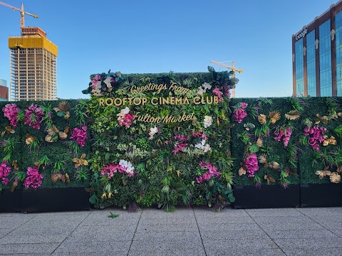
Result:
{"label": "second vertical glass strip from left on the Google building", "polygon": [[316,97],[316,48],[315,31],[306,36],[306,74],[308,81],[308,96]]}

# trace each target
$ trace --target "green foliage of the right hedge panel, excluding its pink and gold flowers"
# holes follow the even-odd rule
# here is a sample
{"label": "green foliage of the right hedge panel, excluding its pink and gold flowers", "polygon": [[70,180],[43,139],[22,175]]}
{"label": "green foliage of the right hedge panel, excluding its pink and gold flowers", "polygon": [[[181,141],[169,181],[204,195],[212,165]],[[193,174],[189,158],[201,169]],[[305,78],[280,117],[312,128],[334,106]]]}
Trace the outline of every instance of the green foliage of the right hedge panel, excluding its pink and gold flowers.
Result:
{"label": "green foliage of the right hedge panel, excluding its pink and gold flowers", "polygon": [[[235,185],[257,185],[257,181],[261,181],[261,185],[266,184],[265,175],[271,175],[276,182],[270,185],[281,183],[281,171],[286,170],[288,176],[289,187],[291,184],[310,184],[310,183],[331,183],[328,175],[318,178],[316,171],[330,171],[341,178],[342,151],[341,151],[341,130],[342,113],[341,97],[286,97],[286,98],[258,98],[258,99],[232,99],[231,107],[246,102],[247,117],[243,119],[241,124],[237,124],[231,117],[234,127],[232,128],[232,156],[234,158],[234,184]],[[269,122],[269,112],[277,111],[280,119],[274,124]],[[285,114],[290,111],[296,111],[299,114],[297,119],[286,119]],[[234,113],[233,113],[234,114]],[[269,127],[269,136],[263,136],[264,146],[257,151],[257,156],[267,154],[270,161],[279,163],[279,169],[264,168],[264,164],[259,162],[259,170],[255,172],[255,177],[247,177],[247,175],[239,176],[240,167],[244,167],[244,153],[247,152],[248,144],[255,144],[256,134],[262,125],[258,121],[258,115],[265,114],[268,120],[265,124]],[[254,129],[246,130],[245,124],[255,125]],[[274,131],[277,127],[283,125],[292,127],[291,138],[289,144],[284,146],[283,141],[276,142],[274,140]],[[340,127],[341,126],[341,127]],[[317,127],[326,129],[326,132],[320,134],[320,137],[326,135],[328,139],[332,139],[333,144],[323,145],[316,142],[317,147],[313,149],[310,145],[309,138],[313,134],[304,134],[305,127]],[[337,132],[335,131],[337,129]],[[242,136],[247,135],[247,137]],[[333,136],[333,138],[331,138]],[[245,138],[245,144],[242,139]],[[335,140],[335,142],[334,142]],[[341,181],[337,181],[339,183]],[[284,185],[284,182],[282,183]]]}

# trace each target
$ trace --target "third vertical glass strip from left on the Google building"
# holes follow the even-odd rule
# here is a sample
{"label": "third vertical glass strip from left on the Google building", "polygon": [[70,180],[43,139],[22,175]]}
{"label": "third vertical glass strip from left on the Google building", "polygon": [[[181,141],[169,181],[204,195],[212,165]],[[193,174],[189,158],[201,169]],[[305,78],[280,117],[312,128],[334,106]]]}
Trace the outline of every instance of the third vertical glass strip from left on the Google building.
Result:
{"label": "third vertical glass strip from left on the Google building", "polygon": [[331,80],[331,23],[330,19],[319,26],[319,83],[321,97],[333,93]]}

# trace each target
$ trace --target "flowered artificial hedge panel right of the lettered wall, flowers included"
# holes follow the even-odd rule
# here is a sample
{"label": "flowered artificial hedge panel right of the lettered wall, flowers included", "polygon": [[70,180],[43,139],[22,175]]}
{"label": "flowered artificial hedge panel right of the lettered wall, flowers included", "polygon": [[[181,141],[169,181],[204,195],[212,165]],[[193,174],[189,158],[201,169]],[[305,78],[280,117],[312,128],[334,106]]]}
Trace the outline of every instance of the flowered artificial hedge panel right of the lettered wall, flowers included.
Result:
{"label": "flowered artificial hedge panel right of the lettered wall, flowers included", "polygon": [[341,97],[234,99],[234,184],[341,182]]}

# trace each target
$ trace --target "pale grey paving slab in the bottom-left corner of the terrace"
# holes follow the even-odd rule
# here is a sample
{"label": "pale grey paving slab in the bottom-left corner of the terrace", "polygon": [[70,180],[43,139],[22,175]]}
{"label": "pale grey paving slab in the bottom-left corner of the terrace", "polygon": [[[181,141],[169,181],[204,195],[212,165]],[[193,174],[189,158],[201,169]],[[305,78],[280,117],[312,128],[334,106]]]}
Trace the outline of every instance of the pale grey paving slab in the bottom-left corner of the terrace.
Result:
{"label": "pale grey paving slab in the bottom-left corner of the terrace", "polygon": [[31,244],[6,244],[0,246],[0,255],[12,255],[12,254],[39,254],[49,253],[51,254],[58,247],[59,243],[31,243]]}

